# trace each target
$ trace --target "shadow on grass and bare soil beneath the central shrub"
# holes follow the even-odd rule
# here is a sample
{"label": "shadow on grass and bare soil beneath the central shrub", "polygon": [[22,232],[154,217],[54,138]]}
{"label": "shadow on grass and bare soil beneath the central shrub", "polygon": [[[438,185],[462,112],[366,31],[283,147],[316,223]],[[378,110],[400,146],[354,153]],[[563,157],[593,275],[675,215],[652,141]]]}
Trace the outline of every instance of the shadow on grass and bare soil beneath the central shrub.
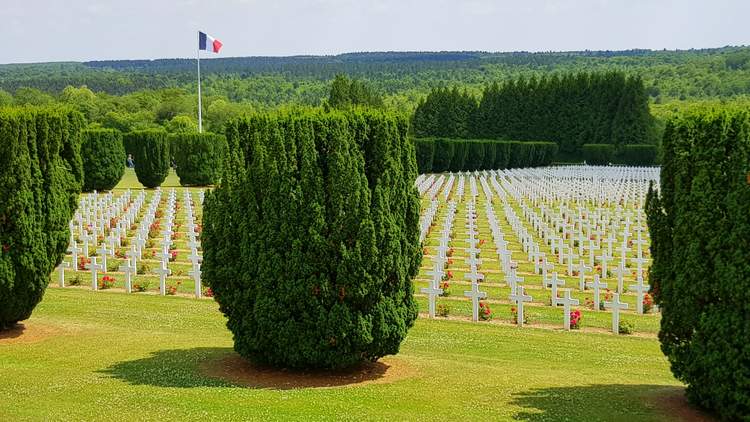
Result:
{"label": "shadow on grass and bare soil beneath the central shrub", "polygon": [[99,371],[131,385],[249,387],[275,390],[330,388],[393,381],[413,371],[403,361],[367,363],[344,371],[289,371],[253,365],[231,348],[160,350]]}

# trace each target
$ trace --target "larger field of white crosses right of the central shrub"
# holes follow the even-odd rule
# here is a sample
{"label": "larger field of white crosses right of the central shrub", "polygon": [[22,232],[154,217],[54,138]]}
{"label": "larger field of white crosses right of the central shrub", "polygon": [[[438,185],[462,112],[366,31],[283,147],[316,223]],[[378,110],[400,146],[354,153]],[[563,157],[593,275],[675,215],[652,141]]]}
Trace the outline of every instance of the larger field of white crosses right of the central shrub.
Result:
{"label": "larger field of white crosses right of the central shrub", "polygon": [[428,316],[655,332],[643,211],[651,167],[420,175]]}

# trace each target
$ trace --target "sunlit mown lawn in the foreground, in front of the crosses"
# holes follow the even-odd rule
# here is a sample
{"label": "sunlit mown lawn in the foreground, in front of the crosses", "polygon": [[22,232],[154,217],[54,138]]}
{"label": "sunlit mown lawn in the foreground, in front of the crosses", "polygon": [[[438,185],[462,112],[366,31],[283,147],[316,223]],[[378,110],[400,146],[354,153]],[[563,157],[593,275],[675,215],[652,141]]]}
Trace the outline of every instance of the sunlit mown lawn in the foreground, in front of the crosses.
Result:
{"label": "sunlit mown lawn in the foreground, in front of the crosses", "polygon": [[420,318],[394,358],[408,376],[282,390],[204,375],[201,365],[233,353],[211,300],[50,288],[25,326],[0,337],[0,420],[656,421],[689,411],[654,338]]}

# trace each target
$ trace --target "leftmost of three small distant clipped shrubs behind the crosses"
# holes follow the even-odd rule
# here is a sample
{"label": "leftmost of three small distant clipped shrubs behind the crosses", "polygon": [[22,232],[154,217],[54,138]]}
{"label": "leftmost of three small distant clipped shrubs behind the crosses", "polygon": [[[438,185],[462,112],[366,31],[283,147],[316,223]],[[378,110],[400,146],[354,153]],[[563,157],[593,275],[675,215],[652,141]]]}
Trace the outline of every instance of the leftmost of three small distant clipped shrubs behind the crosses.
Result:
{"label": "leftmost of three small distant clipped shrubs behind the crosses", "polygon": [[83,190],[110,190],[125,173],[122,135],[114,129],[87,129],[82,132]]}

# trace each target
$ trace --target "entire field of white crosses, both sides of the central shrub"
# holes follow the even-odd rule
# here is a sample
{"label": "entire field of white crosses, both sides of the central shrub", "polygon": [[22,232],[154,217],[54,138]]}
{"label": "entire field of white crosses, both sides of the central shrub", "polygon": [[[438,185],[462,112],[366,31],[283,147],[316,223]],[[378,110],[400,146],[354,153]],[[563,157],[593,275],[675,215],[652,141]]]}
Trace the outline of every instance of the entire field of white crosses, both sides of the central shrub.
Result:
{"label": "entire field of white crosses, both sides of the central shrub", "polygon": [[[423,316],[654,333],[643,202],[657,168],[550,167],[420,175]],[[205,191],[83,194],[52,285],[211,297]],[[554,302],[554,303],[553,303]]]}

